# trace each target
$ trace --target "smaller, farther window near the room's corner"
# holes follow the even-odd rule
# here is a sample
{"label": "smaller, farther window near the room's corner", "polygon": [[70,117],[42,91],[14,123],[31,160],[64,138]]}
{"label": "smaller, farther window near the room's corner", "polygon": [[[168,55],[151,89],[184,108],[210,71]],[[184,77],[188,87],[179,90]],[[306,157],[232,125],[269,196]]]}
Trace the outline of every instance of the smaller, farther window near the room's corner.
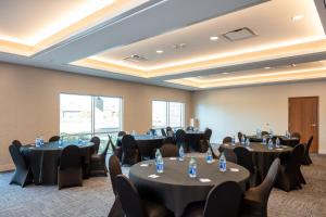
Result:
{"label": "smaller, farther window near the room's corner", "polygon": [[185,104],[152,101],[152,128],[184,127]]}

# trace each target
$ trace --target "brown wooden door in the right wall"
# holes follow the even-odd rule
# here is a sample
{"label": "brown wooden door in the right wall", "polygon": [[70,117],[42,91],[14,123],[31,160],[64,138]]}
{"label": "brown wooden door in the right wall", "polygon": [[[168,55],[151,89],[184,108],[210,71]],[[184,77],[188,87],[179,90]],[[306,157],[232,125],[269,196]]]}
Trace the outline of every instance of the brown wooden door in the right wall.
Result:
{"label": "brown wooden door in the right wall", "polygon": [[310,152],[318,152],[318,97],[289,98],[290,132],[300,132],[301,142],[314,137]]}

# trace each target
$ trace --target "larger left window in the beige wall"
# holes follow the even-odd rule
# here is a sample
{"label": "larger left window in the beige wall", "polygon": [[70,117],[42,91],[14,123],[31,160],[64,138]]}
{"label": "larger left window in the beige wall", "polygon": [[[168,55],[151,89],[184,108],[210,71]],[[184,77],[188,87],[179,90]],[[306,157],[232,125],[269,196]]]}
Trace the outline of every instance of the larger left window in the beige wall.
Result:
{"label": "larger left window in the beige wall", "polygon": [[121,130],[122,99],[60,94],[60,132],[102,133]]}

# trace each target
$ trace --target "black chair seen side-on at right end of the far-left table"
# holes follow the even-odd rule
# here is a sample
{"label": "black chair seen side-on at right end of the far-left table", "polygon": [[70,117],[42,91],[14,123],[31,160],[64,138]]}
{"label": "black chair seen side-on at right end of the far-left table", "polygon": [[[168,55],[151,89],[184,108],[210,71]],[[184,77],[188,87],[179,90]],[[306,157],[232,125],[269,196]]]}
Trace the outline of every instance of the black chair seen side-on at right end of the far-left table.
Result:
{"label": "black chair seen side-on at right end of the far-left table", "polygon": [[109,141],[101,153],[95,153],[90,156],[90,173],[102,171],[104,176],[108,176],[108,168],[105,165],[105,158],[108,154],[109,144],[112,142],[109,136]]}

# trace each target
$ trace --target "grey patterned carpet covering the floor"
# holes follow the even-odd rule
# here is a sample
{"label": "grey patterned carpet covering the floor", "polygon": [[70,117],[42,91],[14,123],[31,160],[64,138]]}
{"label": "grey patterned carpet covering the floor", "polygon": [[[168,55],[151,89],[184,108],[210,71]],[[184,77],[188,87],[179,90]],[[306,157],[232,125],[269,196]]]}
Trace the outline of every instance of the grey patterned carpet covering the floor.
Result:
{"label": "grey patterned carpet covering the floor", "polygon": [[[302,168],[308,181],[302,190],[273,190],[269,217],[326,216],[326,156],[315,155],[313,161],[313,165]],[[104,217],[114,200],[109,177],[90,178],[83,188],[59,191],[57,187],[9,186],[11,176],[12,173],[0,174],[0,217]]]}

